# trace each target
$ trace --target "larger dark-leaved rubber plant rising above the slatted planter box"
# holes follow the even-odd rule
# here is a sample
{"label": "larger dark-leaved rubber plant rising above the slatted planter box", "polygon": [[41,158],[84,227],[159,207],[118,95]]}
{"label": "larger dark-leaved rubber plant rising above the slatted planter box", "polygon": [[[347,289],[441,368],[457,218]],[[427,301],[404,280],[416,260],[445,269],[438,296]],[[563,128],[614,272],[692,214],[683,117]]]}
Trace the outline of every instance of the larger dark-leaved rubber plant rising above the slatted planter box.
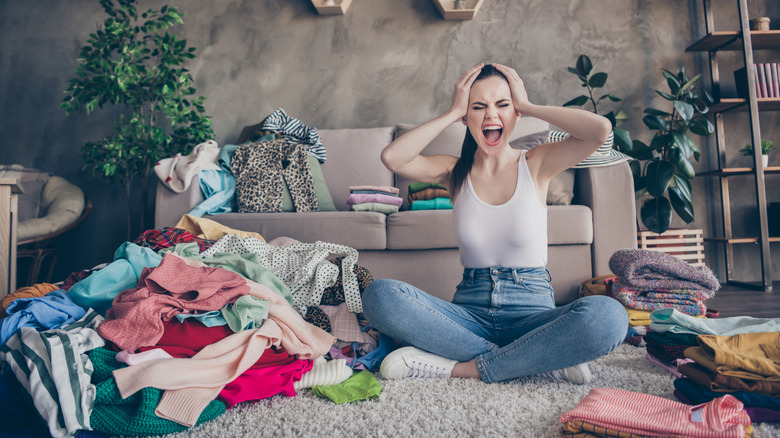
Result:
{"label": "larger dark-leaved rubber plant rising above the slatted planter box", "polygon": [[707,90],[699,90],[701,75],[689,78],[685,67],[677,73],[663,70],[669,92],[655,92],[669,102],[670,108],[648,107],[642,119],[655,131],[649,145],[632,140],[621,151],[630,155],[637,198],[649,196],[640,209],[642,223],[655,233],[663,233],[672,221],[672,209],[686,223],[694,220],[691,180],[695,176],[691,158],[701,152],[689,133],[707,136],[714,126],[707,120],[713,99]]}

